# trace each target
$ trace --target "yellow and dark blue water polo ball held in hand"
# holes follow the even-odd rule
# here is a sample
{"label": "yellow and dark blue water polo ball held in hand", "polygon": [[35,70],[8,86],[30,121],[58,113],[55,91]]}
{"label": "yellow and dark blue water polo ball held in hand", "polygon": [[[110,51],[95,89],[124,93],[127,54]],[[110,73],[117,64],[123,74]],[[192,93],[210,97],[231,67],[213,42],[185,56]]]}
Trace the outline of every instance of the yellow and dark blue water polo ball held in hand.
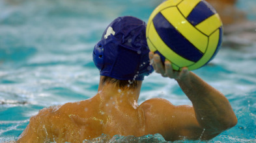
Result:
{"label": "yellow and dark blue water polo ball held in hand", "polygon": [[160,54],[172,67],[190,71],[212,60],[222,42],[220,16],[204,0],[167,0],[149,17],[149,49]]}

